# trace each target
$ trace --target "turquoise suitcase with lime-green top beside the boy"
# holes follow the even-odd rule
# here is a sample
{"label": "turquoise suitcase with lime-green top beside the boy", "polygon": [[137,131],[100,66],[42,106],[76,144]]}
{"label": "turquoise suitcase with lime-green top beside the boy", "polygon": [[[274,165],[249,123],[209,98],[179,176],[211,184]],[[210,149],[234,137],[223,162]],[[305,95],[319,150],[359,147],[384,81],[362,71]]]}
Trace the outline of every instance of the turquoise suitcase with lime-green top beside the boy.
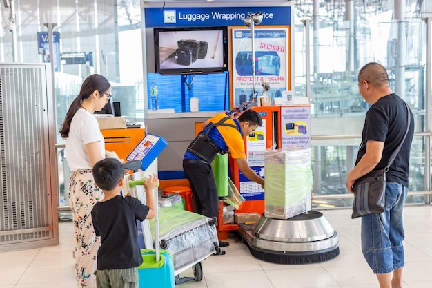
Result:
{"label": "turquoise suitcase with lime-green top beside the boy", "polygon": [[142,249],[143,263],[138,267],[139,287],[174,288],[173,257],[167,251],[160,251],[156,261],[155,250]]}

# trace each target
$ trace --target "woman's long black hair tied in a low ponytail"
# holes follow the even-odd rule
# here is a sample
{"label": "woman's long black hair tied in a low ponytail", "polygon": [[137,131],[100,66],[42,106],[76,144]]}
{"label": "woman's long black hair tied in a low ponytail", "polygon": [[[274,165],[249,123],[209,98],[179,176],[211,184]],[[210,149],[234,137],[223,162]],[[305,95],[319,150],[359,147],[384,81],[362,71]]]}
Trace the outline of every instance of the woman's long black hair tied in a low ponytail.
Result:
{"label": "woman's long black hair tied in a low ponytail", "polygon": [[[95,92],[95,90],[99,90],[101,92],[105,92],[110,88],[110,82],[99,74],[92,74],[88,76],[83,84],[81,85],[81,90],[79,91],[79,95],[74,99],[72,104],[70,104],[68,113],[66,113],[63,124],[59,129],[61,137],[66,139],[69,136],[70,131],[70,122],[72,122],[72,118],[75,113],[77,113],[79,106],[81,106],[81,101],[90,97],[90,95]],[[101,95],[103,97],[104,95]]]}

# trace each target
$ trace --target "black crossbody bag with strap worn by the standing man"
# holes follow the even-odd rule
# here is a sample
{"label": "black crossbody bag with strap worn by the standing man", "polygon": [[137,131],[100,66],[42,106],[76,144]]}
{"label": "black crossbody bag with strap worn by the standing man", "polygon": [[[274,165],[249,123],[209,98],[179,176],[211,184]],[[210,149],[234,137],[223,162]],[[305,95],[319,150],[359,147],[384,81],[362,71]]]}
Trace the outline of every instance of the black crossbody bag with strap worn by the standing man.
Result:
{"label": "black crossbody bag with strap worn by the standing man", "polygon": [[354,182],[352,219],[373,213],[384,212],[386,204],[386,172],[389,171],[389,167],[395,160],[397,153],[399,153],[402,144],[404,144],[411,122],[409,108],[406,103],[405,106],[408,111],[408,126],[406,127],[406,132],[402,142],[400,142],[397,149],[391,155],[386,167],[384,169],[371,171]]}

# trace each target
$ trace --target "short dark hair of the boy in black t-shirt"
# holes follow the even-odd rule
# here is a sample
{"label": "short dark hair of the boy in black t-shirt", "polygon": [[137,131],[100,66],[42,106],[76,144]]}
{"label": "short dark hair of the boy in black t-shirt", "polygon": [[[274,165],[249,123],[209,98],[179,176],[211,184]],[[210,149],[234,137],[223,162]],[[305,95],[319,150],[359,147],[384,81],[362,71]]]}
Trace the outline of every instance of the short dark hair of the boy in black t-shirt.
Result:
{"label": "short dark hair of the boy in black t-shirt", "polygon": [[97,186],[108,191],[115,189],[124,175],[123,165],[115,158],[105,158],[96,162],[92,171]]}

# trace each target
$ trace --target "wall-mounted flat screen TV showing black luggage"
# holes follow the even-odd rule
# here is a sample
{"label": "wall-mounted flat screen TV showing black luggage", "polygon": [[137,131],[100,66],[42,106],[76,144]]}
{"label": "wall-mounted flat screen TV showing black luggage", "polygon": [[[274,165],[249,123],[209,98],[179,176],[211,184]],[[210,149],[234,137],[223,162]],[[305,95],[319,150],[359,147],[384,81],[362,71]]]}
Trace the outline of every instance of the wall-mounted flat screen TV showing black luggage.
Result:
{"label": "wall-mounted flat screen TV showing black luggage", "polygon": [[156,73],[221,73],[228,70],[228,28],[154,28]]}

